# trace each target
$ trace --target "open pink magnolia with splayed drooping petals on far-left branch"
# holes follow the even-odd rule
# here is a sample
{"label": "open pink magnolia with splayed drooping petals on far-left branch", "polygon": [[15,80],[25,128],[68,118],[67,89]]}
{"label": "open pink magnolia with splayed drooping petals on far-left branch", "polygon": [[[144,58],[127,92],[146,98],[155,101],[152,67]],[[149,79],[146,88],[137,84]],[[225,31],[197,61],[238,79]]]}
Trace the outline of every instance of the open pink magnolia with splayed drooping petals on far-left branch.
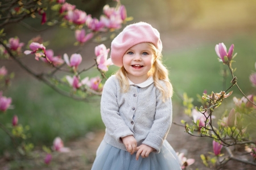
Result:
{"label": "open pink magnolia with splayed drooping petals on far-left branch", "polygon": [[31,53],[35,53],[36,60],[39,60],[39,57],[41,56],[46,56],[46,47],[44,47],[43,44],[33,42],[30,44],[30,49],[32,49],[32,51],[26,50],[24,51],[24,54],[28,55]]}

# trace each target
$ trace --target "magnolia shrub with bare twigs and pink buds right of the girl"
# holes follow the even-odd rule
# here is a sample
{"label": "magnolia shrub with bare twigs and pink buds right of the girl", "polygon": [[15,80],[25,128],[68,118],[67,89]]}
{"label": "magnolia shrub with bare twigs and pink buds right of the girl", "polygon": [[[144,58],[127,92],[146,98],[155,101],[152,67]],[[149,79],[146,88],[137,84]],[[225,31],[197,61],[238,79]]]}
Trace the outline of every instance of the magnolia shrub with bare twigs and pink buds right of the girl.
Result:
{"label": "magnolia shrub with bare twigs and pink buds right of the girl", "polygon": [[[252,136],[250,129],[255,129],[256,120],[256,96],[254,94],[246,95],[238,86],[237,77],[234,76],[236,69],[232,68],[234,62],[233,55],[234,44],[231,45],[227,52],[224,43],[217,44],[215,47],[218,59],[229,68],[232,75],[230,86],[225,91],[220,93],[203,93],[199,96],[199,101],[202,103],[200,107],[193,106],[193,98],[188,98],[184,93],[183,105],[185,106],[185,114],[192,118],[193,123],[181,120],[185,127],[185,132],[192,136],[211,138],[213,152],[209,155],[202,154],[201,159],[205,166],[222,169],[228,161],[238,161],[243,164],[250,164],[256,167],[256,146],[255,136]],[[256,63],[255,63],[256,69]],[[226,77],[225,77],[226,78]],[[251,73],[251,84],[256,88],[256,72]],[[236,86],[242,93],[242,98],[233,97],[234,107],[226,110],[219,119],[214,115],[214,111],[221,105],[224,99],[230,97],[233,91],[229,91],[233,86]],[[229,93],[227,93],[229,91]],[[178,123],[175,123],[179,125]],[[254,139],[253,139],[254,138]],[[237,151],[237,147],[243,148],[244,152]],[[225,148],[225,153],[221,149]],[[246,156],[247,155],[247,156]]]}

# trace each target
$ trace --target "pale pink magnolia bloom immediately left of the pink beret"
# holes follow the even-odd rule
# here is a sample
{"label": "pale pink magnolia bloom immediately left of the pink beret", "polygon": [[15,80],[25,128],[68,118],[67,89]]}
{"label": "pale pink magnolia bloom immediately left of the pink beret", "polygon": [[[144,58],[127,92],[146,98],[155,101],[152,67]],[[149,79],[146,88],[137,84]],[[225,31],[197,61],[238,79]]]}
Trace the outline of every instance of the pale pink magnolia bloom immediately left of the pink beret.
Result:
{"label": "pale pink magnolia bloom immediately left of the pink beret", "polygon": [[108,58],[109,48],[106,49],[106,46],[104,44],[98,45],[94,49],[95,55],[97,56],[97,64],[98,68],[102,71],[108,71],[108,66],[113,65],[112,60]]}

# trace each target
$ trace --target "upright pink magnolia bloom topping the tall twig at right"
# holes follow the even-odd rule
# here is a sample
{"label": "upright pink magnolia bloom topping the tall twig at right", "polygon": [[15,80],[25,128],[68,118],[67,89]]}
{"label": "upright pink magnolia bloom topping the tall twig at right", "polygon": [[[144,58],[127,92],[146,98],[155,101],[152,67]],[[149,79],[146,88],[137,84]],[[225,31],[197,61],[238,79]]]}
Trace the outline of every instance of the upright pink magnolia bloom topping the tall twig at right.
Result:
{"label": "upright pink magnolia bloom topping the tall twig at right", "polygon": [[226,52],[226,46],[224,43],[219,43],[215,46],[215,51],[218,55],[218,57],[220,57],[220,59],[223,61],[223,63],[226,63],[226,61],[224,60],[224,56],[228,57],[228,61],[232,60],[232,55],[233,55],[233,51],[234,51],[234,44],[232,44],[229,48],[229,52]]}

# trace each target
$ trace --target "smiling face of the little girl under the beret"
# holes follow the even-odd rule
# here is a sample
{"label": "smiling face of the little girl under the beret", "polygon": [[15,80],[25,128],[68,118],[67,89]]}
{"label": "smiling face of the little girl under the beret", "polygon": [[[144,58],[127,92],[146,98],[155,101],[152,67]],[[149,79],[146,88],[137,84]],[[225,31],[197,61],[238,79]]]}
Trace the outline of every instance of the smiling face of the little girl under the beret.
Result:
{"label": "smiling face of the little girl under the beret", "polygon": [[135,84],[146,81],[154,63],[154,52],[147,43],[134,45],[123,55],[123,67]]}

